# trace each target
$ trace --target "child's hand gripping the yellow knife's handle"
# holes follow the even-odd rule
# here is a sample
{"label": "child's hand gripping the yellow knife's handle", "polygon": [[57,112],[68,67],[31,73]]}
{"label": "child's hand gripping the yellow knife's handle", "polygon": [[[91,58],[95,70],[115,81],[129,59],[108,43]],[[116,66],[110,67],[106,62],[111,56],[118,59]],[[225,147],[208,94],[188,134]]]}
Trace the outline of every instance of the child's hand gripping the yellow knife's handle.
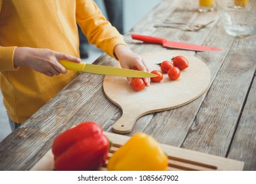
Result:
{"label": "child's hand gripping the yellow knife's handle", "polygon": [[14,51],[15,68],[18,68],[18,66],[27,66],[50,77],[66,74],[66,68],[59,63],[59,60],[81,62],[80,58],[50,49],[17,47]]}

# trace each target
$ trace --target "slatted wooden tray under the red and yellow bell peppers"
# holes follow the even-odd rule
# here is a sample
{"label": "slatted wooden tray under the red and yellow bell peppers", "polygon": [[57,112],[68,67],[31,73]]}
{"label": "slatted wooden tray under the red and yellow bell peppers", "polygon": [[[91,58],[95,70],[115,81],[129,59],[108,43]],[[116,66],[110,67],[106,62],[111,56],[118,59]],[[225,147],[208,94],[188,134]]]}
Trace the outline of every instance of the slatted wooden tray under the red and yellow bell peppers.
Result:
{"label": "slatted wooden tray under the red and yellow bell peppers", "polygon": [[[113,146],[109,150],[109,157],[113,155],[113,152],[118,150],[118,148],[130,137],[125,135],[119,135],[115,133],[104,132],[111,141],[113,141]],[[169,145],[161,144],[163,150],[165,150],[168,155],[168,170],[187,170],[187,171],[215,171],[215,170],[243,170],[243,162],[238,160],[232,160],[229,158],[223,158],[219,156],[214,156],[211,154],[205,154],[202,152],[196,152],[193,150],[182,149],[178,147],[172,147]],[[108,162],[108,160],[107,160]],[[101,167],[100,170],[107,170],[107,162],[105,166]],[[51,149],[46,152],[46,154],[31,168],[31,170],[39,171],[53,171],[53,154]]]}

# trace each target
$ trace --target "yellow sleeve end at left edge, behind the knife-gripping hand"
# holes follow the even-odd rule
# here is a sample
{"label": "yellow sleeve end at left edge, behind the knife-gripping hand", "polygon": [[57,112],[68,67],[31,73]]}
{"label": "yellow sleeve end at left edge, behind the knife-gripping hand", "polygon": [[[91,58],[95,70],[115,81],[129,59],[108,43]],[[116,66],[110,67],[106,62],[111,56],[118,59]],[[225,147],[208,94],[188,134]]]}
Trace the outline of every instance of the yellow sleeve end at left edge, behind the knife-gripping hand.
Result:
{"label": "yellow sleeve end at left edge, behind the knife-gripping hand", "polygon": [[0,46],[0,72],[17,70],[14,68],[13,55],[16,47]]}

